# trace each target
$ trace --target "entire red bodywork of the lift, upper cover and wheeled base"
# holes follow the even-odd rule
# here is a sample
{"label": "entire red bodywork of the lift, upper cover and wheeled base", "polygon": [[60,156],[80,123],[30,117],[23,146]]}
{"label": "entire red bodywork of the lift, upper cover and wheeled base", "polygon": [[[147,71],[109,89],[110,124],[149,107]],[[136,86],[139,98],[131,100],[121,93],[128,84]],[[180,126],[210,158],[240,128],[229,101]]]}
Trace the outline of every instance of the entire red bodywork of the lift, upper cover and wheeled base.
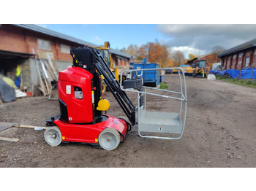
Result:
{"label": "entire red bodywork of the lift, upper cover and wheeled base", "polygon": [[[59,72],[59,99],[61,119],[53,123],[61,130],[62,141],[98,144],[99,133],[105,128],[114,128],[121,133],[121,140],[127,134],[127,123],[110,115],[94,119],[93,75],[79,67],[67,67]],[[80,88],[81,98],[75,97],[75,88]],[[66,116],[67,115],[67,116]]]}

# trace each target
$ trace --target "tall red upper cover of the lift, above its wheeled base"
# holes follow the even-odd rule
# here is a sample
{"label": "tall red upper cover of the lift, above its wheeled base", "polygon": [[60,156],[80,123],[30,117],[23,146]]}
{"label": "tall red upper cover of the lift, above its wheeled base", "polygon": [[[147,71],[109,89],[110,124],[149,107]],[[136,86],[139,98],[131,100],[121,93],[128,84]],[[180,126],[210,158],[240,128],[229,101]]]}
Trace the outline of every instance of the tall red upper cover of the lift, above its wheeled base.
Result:
{"label": "tall red upper cover of the lift, above its wheeled base", "polygon": [[[67,120],[70,123],[93,121],[92,74],[79,67],[67,67],[59,72],[59,98],[67,105]],[[83,98],[75,98],[75,87],[80,87]]]}

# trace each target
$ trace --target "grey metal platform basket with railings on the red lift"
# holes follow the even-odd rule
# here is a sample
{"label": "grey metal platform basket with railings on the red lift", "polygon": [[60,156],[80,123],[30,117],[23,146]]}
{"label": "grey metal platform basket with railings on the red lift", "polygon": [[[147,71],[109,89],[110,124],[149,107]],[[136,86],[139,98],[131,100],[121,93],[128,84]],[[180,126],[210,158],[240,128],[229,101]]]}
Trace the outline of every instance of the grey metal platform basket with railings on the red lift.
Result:
{"label": "grey metal platform basket with railings on the red lift", "polygon": [[[121,81],[124,73],[135,72],[138,74],[138,71],[148,71],[148,70],[169,70],[176,69],[178,70],[178,78],[180,83],[180,91],[173,90],[162,90],[157,87],[146,87],[143,86],[140,90],[135,89],[124,89],[121,86],[121,90],[127,92],[137,93],[138,96],[138,106],[136,110],[136,125],[138,127],[138,134],[143,138],[154,138],[154,139],[181,139],[181,136],[184,132],[184,126],[186,122],[187,114],[187,88],[184,70],[176,68],[164,68],[164,69],[138,69],[138,70],[125,70],[121,72]],[[176,74],[175,74],[176,75]],[[138,77],[138,75],[137,75]],[[122,82],[120,82],[122,85]],[[153,90],[157,93],[151,93]],[[166,94],[171,94],[169,96]],[[165,94],[165,95],[164,95]],[[179,101],[179,111],[178,112],[152,112],[146,110],[146,95],[153,95],[159,98],[172,99]],[[144,104],[140,106],[141,100],[143,98]]]}

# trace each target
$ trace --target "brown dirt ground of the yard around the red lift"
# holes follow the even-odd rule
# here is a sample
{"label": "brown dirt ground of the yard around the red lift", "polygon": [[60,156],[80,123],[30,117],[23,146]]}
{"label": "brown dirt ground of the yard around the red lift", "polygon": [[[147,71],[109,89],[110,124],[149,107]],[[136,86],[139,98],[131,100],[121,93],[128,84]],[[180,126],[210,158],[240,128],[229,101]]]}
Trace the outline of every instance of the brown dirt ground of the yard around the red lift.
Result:
{"label": "brown dirt ground of the yard around the red lift", "polygon": [[[166,74],[164,81],[176,87],[177,74]],[[20,141],[0,141],[0,167],[256,167],[256,89],[201,78],[186,81],[187,121],[179,140],[143,139],[133,128],[124,143],[106,151],[74,143],[51,147],[44,130],[8,128],[0,136]],[[111,104],[108,114],[124,115],[110,92],[105,98]],[[147,104],[155,111],[175,106],[166,100]],[[0,105],[0,122],[44,126],[56,114],[58,101],[44,97]]]}

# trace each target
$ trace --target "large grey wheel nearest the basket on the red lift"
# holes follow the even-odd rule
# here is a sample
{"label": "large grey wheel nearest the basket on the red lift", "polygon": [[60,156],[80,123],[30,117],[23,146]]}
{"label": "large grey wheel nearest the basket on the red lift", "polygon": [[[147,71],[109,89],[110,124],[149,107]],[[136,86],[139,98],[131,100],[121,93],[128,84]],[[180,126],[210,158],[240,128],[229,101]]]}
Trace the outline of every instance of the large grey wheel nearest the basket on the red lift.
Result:
{"label": "large grey wheel nearest the basket on the red lift", "polygon": [[99,133],[99,145],[105,150],[113,150],[118,147],[121,137],[116,129],[105,128]]}

